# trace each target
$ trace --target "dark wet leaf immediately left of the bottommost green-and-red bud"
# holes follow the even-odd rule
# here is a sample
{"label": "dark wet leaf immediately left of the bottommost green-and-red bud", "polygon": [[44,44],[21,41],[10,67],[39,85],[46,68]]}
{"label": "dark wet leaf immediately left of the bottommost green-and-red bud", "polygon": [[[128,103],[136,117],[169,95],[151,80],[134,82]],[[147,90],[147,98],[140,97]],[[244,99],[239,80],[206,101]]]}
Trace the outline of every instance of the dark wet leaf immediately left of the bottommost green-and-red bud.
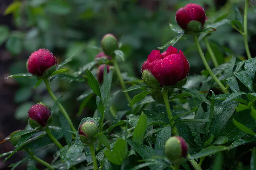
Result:
{"label": "dark wet leaf immediately left of the bottommost green-and-red bud", "polygon": [[172,128],[170,125],[164,127],[156,136],[155,150],[158,156],[164,156],[165,142],[172,136]]}

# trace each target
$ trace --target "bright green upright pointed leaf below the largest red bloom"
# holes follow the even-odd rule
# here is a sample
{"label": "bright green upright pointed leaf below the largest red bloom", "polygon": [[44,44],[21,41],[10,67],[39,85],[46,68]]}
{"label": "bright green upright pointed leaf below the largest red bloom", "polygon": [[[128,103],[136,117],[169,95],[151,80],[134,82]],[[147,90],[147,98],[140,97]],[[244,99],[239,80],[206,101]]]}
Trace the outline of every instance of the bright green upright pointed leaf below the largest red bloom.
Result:
{"label": "bright green upright pointed leaf below the largest red bloom", "polygon": [[147,130],[148,119],[147,116],[142,112],[136,127],[134,128],[132,141],[138,144],[142,144],[144,136]]}

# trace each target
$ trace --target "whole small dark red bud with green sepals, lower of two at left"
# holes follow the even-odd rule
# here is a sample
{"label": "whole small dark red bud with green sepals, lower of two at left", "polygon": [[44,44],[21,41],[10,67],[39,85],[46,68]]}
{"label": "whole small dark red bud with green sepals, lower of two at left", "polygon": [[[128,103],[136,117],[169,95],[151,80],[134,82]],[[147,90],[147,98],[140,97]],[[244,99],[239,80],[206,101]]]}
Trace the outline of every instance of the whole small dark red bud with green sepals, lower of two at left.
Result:
{"label": "whole small dark red bud with green sepals, lower of two at left", "polygon": [[28,110],[28,117],[28,122],[32,128],[36,128],[38,126],[45,127],[52,123],[50,109],[41,103],[30,107]]}

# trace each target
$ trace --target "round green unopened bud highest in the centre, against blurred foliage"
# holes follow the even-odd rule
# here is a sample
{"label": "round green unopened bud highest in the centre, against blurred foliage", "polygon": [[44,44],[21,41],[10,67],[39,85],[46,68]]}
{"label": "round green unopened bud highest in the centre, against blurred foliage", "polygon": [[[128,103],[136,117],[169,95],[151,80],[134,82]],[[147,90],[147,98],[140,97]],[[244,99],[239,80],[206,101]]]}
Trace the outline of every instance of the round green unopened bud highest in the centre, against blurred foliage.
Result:
{"label": "round green unopened bud highest in the centre, against blurred foliage", "polygon": [[101,46],[106,55],[113,56],[114,51],[118,49],[118,42],[113,34],[106,34],[101,40]]}

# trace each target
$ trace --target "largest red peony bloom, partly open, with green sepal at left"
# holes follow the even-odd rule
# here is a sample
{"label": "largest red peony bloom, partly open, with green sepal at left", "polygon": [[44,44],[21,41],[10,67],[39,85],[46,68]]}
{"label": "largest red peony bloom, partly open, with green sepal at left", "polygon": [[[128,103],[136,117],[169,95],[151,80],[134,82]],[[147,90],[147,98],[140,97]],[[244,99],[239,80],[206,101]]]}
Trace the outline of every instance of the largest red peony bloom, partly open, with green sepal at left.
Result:
{"label": "largest red peony bloom, partly open, with green sepal at left", "polygon": [[168,47],[160,53],[154,49],[148,55],[148,60],[142,64],[144,82],[153,88],[173,86],[188,75],[190,65],[183,52],[175,47]]}

